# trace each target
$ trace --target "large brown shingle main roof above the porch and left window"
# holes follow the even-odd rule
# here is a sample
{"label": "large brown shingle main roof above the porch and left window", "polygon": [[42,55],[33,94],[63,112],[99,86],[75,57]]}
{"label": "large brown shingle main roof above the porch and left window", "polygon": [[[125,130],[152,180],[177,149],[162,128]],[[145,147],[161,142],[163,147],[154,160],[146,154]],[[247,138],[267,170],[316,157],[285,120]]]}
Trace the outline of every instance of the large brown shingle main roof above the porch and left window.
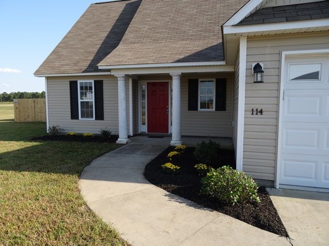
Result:
{"label": "large brown shingle main roof above the porch and left window", "polygon": [[35,74],[97,65],[224,60],[221,26],[248,0],[127,0],[93,4]]}

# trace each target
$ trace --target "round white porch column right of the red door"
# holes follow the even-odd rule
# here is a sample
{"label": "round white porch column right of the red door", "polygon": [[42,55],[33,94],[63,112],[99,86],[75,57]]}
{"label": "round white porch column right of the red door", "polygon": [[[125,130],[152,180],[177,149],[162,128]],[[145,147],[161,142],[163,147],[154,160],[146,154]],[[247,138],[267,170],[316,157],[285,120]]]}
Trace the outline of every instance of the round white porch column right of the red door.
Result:
{"label": "round white porch column right of the red door", "polygon": [[180,73],[170,74],[173,77],[173,129],[172,140],[170,145],[177,146],[181,144],[180,133]]}

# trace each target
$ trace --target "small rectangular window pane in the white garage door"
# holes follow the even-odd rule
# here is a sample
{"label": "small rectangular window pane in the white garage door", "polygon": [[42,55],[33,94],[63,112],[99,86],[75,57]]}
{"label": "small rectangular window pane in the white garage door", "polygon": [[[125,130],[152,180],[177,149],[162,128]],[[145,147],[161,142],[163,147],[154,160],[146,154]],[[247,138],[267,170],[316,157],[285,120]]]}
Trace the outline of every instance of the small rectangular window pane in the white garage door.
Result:
{"label": "small rectangular window pane in the white garage door", "polygon": [[296,64],[289,66],[289,80],[319,80],[321,64]]}

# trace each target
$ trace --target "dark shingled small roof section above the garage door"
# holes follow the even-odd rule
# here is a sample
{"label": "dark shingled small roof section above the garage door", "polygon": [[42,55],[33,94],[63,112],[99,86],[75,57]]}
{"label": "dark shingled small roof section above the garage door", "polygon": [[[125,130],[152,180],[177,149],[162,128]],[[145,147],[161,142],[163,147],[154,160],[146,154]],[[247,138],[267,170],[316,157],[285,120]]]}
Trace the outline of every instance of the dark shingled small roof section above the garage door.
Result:
{"label": "dark shingled small roof section above the garage door", "polygon": [[329,1],[259,9],[236,25],[295,22],[320,18],[329,18]]}

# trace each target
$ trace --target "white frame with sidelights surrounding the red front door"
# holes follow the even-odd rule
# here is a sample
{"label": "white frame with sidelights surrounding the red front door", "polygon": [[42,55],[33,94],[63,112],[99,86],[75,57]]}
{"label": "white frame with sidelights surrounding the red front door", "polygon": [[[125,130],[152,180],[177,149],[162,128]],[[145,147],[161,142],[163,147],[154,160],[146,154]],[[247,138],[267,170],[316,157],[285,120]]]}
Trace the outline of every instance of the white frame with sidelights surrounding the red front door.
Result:
{"label": "white frame with sidelights surrounding the red front door", "polygon": [[146,130],[145,133],[148,133],[148,83],[149,82],[168,82],[168,105],[169,105],[169,117],[168,117],[168,133],[170,134],[172,131],[172,126],[171,126],[171,86],[172,86],[172,79],[150,79],[150,80],[138,80],[138,133],[141,133],[141,126],[142,126],[142,121],[141,121],[141,113],[142,113],[142,105],[141,105],[141,85],[146,85],[145,89],[145,126]]}

